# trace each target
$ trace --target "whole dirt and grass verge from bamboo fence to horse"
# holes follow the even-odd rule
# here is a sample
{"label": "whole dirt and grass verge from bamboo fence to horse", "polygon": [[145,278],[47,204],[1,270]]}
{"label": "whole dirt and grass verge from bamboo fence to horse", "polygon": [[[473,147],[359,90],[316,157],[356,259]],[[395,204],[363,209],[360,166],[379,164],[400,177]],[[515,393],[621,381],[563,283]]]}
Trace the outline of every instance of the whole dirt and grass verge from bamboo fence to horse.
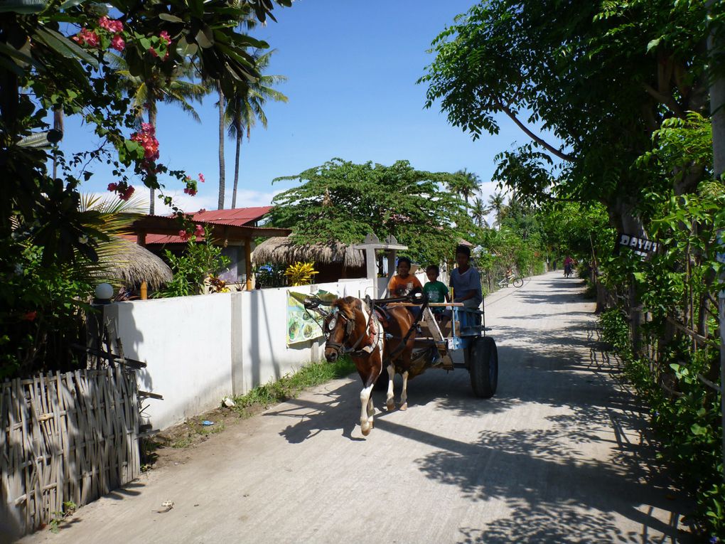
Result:
{"label": "whole dirt and grass verge from bamboo fence to horse", "polygon": [[[181,425],[157,434],[152,439],[141,441],[141,470],[147,471],[160,461],[164,462],[167,453],[164,450],[186,450],[199,442],[204,442],[212,434],[223,432],[226,426],[254,416],[270,405],[296,398],[309,387],[324,384],[331,379],[348,376],[355,371],[355,364],[347,357],[335,363],[309,363],[296,372],[285,374],[274,382],[268,382],[247,392],[245,395],[233,397],[235,406],[226,408],[222,405],[211,412],[188,419]],[[204,425],[204,421],[213,421],[212,425]]]}

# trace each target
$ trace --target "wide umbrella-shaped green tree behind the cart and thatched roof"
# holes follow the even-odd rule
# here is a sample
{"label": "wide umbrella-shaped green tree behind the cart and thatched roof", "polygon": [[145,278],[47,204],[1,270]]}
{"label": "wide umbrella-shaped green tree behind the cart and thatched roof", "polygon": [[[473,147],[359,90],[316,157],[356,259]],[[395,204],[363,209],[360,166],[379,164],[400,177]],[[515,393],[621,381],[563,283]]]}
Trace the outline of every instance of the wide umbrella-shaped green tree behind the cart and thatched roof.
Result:
{"label": "wide umbrella-shaped green tree behind the cart and thatched roof", "polygon": [[302,185],[275,197],[271,222],[291,228],[300,244],[352,244],[369,233],[381,240],[392,234],[418,262],[439,263],[450,258],[457,240],[477,232],[460,197],[440,189],[457,177],[415,170],[405,160],[384,166],[333,159],[275,180]]}

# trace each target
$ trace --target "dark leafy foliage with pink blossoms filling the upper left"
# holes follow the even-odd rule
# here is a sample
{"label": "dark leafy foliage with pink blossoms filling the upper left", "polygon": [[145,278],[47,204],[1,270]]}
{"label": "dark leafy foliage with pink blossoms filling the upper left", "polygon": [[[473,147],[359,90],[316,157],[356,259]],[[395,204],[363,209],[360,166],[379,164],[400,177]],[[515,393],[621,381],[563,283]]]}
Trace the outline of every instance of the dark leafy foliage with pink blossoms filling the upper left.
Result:
{"label": "dark leafy foliage with pink blossoms filling the upper left", "polygon": [[[78,315],[80,301],[101,277],[88,281],[75,272],[95,265],[109,241],[102,213],[83,208],[78,192],[96,161],[112,165],[109,191],[122,197],[119,202],[131,197],[133,176],[149,189],[159,190],[159,177],[169,176],[196,191],[186,173],[156,162],[159,142],[152,131],[139,130],[109,49],[119,51],[130,77],[149,81],[149,70],[155,70],[171,81],[188,62],[199,77],[220,81],[225,96],[232,96],[260,76],[248,51],[267,47],[237,23],[242,17],[273,18],[275,5],[290,6],[291,0],[0,6],[0,275],[8,279],[0,289],[0,374],[11,367],[10,373],[58,368],[68,360],[70,336],[51,340],[46,333],[62,330],[66,310]],[[65,156],[54,147],[62,139],[60,120],[70,115],[94,128],[98,149]],[[51,161],[55,168],[49,172]],[[164,200],[173,205],[170,197]]]}

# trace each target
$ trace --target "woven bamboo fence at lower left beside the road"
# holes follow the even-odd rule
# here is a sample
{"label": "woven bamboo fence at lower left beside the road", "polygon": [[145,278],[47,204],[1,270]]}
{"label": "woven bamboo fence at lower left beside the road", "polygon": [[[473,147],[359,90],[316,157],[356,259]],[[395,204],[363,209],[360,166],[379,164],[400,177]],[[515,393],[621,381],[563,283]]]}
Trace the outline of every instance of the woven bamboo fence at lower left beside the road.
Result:
{"label": "woven bamboo fence at lower left beside the road", "polygon": [[136,376],[122,368],[0,385],[0,516],[20,534],[140,473]]}

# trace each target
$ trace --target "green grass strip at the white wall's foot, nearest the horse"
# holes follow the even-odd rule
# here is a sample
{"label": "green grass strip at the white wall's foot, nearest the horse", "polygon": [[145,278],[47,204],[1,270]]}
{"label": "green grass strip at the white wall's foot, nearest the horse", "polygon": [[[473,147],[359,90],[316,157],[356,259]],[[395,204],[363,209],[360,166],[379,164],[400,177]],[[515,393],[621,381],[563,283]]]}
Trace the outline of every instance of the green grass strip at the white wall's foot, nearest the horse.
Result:
{"label": "green grass strip at the white wall's foot, nearest the horse", "polygon": [[335,363],[310,363],[274,382],[254,387],[245,395],[233,397],[236,406],[232,410],[243,418],[249,417],[257,413],[260,408],[268,408],[270,405],[297,398],[308,387],[347,376],[353,371],[355,364],[348,357],[343,357]]}

